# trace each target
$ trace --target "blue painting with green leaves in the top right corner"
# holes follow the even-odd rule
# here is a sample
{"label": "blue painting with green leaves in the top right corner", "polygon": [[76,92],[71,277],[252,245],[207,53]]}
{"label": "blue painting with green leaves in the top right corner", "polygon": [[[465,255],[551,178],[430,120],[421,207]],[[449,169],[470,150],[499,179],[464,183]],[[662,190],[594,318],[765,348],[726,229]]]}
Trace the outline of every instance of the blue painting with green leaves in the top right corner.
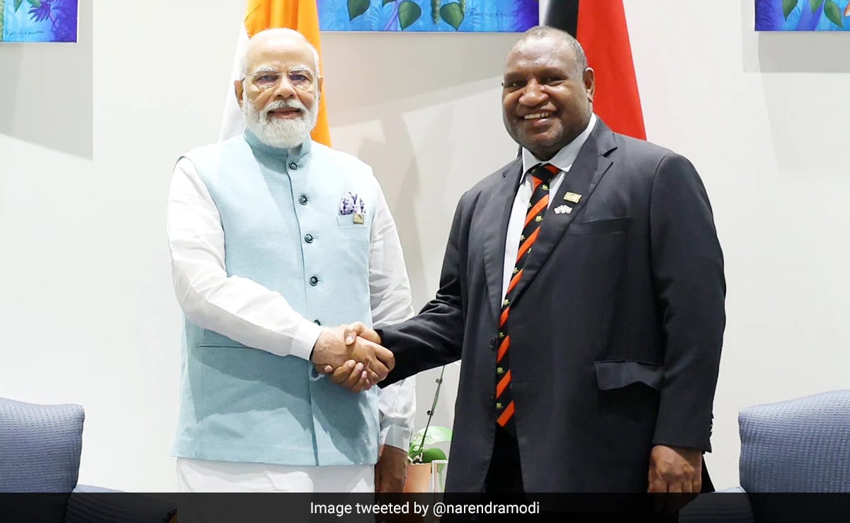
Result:
{"label": "blue painting with green leaves in the top right corner", "polygon": [[850,0],[756,0],[756,31],[850,31]]}

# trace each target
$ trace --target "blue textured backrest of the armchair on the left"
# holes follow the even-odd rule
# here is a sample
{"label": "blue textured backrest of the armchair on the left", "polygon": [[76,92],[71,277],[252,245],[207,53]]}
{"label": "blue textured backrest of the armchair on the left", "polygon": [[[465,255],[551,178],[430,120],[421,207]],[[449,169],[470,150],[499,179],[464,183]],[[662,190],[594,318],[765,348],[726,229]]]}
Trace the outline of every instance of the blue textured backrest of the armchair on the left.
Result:
{"label": "blue textured backrest of the armchair on the left", "polygon": [[84,417],[79,405],[0,398],[0,492],[71,492]]}

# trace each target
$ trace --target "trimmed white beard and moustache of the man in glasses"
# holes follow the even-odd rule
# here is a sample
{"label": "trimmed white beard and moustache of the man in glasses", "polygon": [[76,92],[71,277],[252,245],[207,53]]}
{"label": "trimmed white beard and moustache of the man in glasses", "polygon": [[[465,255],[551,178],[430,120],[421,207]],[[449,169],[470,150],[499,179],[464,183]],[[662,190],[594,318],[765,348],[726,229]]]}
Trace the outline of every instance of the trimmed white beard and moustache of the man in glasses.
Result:
{"label": "trimmed white beard and moustache of the man in glasses", "polygon": [[[319,118],[319,99],[309,110],[299,100],[275,100],[258,111],[248,99],[247,92],[242,94],[242,113],[245,125],[257,138],[269,147],[292,149],[309,139],[310,131]],[[297,118],[269,118],[269,111],[289,107],[300,109],[303,115]]]}

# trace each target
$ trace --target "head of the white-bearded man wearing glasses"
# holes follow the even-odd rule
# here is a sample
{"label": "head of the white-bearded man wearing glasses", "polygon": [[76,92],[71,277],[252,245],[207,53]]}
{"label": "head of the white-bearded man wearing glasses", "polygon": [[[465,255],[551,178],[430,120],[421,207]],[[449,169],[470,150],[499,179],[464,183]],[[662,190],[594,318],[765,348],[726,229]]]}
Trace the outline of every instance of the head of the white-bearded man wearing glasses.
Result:
{"label": "head of the white-bearded man wearing glasses", "polygon": [[235,82],[235,90],[246,127],[264,144],[291,148],[309,139],[319,115],[315,61],[297,34],[264,31],[252,38],[246,77]]}

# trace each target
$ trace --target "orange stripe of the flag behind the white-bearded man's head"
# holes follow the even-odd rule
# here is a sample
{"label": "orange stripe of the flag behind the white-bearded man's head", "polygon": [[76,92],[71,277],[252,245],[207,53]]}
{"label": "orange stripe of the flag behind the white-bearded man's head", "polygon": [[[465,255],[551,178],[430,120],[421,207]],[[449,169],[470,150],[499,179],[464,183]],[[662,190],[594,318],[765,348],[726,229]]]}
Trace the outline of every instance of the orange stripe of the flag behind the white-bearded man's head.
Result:
{"label": "orange stripe of the flag behind the white-bearded man's head", "polygon": [[[264,29],[288,27],[303,34],[321,56],[319,9],[316,0],[248,0],[245,29],[253,37]],[[320,60],[321,61],[321,60]],[[321,64],[319,65],[321,74]],[[331,129],[327,123],[325,93],[319,99],[319,120],[310,136],[320,144],[331,146]]]}

